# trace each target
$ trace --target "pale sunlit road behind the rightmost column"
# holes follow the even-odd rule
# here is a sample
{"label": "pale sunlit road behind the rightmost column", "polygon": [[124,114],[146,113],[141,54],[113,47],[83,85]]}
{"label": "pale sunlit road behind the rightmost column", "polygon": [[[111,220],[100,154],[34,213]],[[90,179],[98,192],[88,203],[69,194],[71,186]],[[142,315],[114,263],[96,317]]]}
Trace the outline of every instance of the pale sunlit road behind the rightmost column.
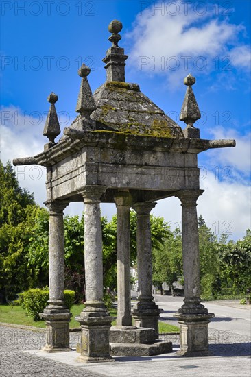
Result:
{"label": "pale sunlit road behind the rightmost column", "polygon": [[[171,324],[177,324],[173,314],[183,303],[184,297],[154,296],[156,304],[164,310],[160,314],[160,320]],[[251,311],[250,306],[238,306],[235,302],[202,302],[208,312],[215,313],[215,318],[211,319],[209,328],[211,330],[222,330],[237,335],[251,336]]]}

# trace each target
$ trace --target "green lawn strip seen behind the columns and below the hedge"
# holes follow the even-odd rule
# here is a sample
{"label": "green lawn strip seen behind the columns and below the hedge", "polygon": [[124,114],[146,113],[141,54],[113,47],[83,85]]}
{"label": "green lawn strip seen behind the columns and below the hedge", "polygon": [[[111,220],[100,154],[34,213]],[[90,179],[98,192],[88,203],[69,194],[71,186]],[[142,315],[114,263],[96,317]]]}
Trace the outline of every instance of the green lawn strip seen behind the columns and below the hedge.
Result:
{"label": "green lawn strip seen behind the columns and below the hedge", "polygon": [[[73,305],[71,308],[71,321],[70,328],[80,327],[79,322],[75,320],[77,315],[80,315],[80,312],[84,308],[84,304]],[[117,310],[111,309],[110,315],[112,317],[117,316]],[[21,306],[12,306],[12,305],[0,305],[0,322],[6,324],[16,324],[16,325],[25,325],[25,326],[34,326],[38,328],[45,328],[45,321],[34,321],[31,317],[28,317]],[[112,325],[115,325],[116,321],[112,321]],[[177,326],[165,324],[164,322],[158,323],[158,331],[160,334],[166,332],[180,332],[180,329]]]}

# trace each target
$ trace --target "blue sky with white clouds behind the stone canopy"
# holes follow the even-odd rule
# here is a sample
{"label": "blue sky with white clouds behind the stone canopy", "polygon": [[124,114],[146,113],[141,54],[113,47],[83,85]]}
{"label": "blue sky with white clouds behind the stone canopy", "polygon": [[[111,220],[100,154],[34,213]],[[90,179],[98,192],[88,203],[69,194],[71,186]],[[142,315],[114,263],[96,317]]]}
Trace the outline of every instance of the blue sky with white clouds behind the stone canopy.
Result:
{"label": "blue sky with white clouds behind the stone canopy", "polygon": [[[42,136],[54,91],[61,129],[75,117],[77,69],[91,66],[95,90],[105,81],[102,58],[110,47],[108,24],[123,23],[119,43],[129,55],[126,81],[182,127],[183,78],[193,74],[202,138],[235,138],[237,147],[199,156],[198,212],[216,233],[237,239],[250,227],[250,1],[1,1],[1,159],[43,150]],[[45,199],[45,172],[18,167],[22,184]],[[178,199],[154,213],[180,223]],[[115,206],[103,206],[104,215]],[[69,206],[80,213],[82,206]]]}

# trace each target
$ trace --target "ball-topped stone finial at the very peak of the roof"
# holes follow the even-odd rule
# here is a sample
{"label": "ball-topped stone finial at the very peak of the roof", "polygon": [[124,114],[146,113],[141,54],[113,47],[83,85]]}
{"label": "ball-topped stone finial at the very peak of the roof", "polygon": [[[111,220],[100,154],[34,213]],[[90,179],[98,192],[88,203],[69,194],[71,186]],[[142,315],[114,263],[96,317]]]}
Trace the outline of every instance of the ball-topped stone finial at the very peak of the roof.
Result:
{"label": "ball-topped stone finial at the very peak of the roof", "polygon": [[124,49],[118,46],[121,40],[121,32],[123,25],[120,21],[113,20],[108,26],[108,30],[112,35],[108,38],[112,42],[112,47],[106,51],[106,58],[103,62],[106,64],[106,81],[125,82],[125,60],[128,58],[124,55]]}

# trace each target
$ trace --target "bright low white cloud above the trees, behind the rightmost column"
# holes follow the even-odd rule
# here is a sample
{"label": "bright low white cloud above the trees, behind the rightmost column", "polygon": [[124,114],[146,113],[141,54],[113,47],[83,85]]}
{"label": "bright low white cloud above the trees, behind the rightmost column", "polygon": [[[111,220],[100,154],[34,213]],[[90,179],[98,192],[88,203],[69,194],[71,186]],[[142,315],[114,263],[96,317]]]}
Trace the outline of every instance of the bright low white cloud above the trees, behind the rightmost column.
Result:
{"label": "bright low white cloud above the trees, behind the rightmost column", "polygon": [[[250,188],[238,182],[220,182],[213,173],[208,172],[201,181],[204,189],[198,198],[198,216],[202,215],[208,228],[219,235],[229,234],[229,239],[240,239],[251,227]],[[152,211],[164,217],[171,229],[181,228],[181,206],[176,197],[160,200]]]}

